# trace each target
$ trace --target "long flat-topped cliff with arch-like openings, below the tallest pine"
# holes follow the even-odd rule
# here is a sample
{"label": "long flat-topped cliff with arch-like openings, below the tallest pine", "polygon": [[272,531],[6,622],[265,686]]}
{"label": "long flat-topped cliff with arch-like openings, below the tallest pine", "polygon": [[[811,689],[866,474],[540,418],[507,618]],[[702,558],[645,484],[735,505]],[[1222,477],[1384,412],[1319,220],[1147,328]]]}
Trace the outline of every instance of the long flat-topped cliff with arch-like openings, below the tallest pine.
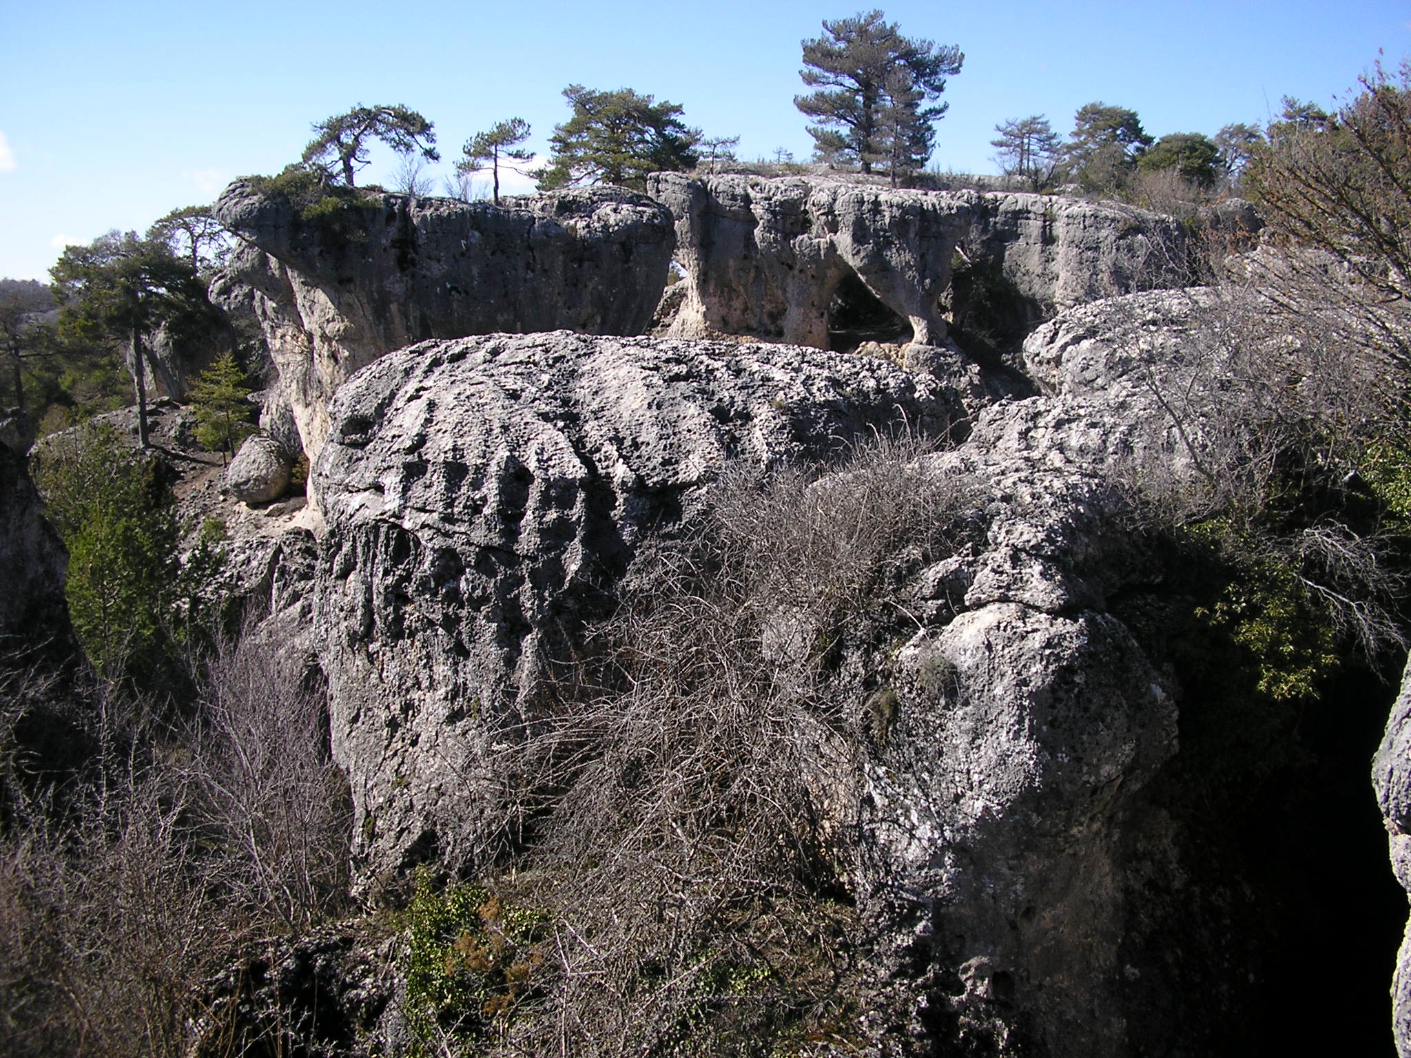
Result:
{"label": "long flat-topped cliff with arch-like openings, below the tallest pine", "polygon": [[676,219],[682,336],[828,348],[840,319],[875,299],[920,344],[945,339],[943,310],[972,327],[981,312],[1003,317],[1022,339],[1055,310],[1187,275],[1178,221],[1112,203],[680,174],[653,175],[650,193]]}

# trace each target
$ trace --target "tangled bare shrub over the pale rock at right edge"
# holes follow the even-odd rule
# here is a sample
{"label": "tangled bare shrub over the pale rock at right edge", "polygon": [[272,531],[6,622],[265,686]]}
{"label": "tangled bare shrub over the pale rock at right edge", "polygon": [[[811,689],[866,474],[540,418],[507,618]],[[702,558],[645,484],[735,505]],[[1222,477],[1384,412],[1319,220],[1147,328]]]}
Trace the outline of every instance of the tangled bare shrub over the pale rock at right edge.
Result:
{"label": "tangled bare shrub over the pale rock at right edge", "polygon": [[1189,299],[1188,326],[1140,370],[1158,415],[1118,478],[1149,528],[1199,526],[1236,563],[1291,568],[1377,657],[1405,646],[1407,584],[1394,526],[1359,513],[1374,506],[1359,499],[1359,470],[1369,443],[1397,430],[1397,354],[1336,299],[1292,293],[1285,264],[1259,254],[1215,288],[1173,295]]}

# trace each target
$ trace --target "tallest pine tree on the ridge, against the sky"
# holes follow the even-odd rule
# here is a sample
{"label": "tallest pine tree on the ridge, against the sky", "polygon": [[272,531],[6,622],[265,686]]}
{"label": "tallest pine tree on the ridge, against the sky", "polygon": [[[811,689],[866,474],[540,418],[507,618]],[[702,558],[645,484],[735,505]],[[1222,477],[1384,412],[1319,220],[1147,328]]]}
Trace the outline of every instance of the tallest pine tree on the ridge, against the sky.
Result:
{"label": "tallest pine tree on the ridge, against the sky", "polygon": [[862,172],[885,164],[893,185],[931,157],[934,123],[948,103],[934,102],[945,78],[961,72],[955,45],[903,37],[882,11],[823,23],[823,37],[803,41],[799,76],[816,89],[794,106],[817,120],[809,126],[825,161],[855,162]]}

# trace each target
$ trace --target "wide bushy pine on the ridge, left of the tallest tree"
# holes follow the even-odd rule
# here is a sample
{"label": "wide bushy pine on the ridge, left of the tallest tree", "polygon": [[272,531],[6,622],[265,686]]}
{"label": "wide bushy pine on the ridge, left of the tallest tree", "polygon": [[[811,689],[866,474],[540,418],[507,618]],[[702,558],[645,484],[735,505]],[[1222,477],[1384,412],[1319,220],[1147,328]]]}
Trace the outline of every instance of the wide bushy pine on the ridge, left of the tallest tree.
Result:
{"label": "wide bushy pine on the ridge, left of the tallest tree", "polygon": [[700,130],[689,128],[676,103],[656,103],[631,89],[597,92],[569,85],[573,117],[549,137],[549,165],[535,176],[540,190],[602,182],[646,188],[646,175],[696,166]]}

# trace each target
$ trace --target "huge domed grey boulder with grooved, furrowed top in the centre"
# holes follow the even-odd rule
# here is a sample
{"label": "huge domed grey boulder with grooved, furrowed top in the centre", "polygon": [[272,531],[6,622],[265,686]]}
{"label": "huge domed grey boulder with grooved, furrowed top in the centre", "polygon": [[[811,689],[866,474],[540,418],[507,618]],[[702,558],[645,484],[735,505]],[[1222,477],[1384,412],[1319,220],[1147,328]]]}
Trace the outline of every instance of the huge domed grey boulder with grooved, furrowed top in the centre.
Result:
{"label": "huge domed grey boulder with grooved, furrowed top in the centre", "polygon": [[497,742],[535,718],[643,542],[698,523],[728,461],[945,434],[959,413],[880,360],[566,332],[425,343],[350,379],[313,470],[316,614],[364,879],[492,855],[512,784]]}

